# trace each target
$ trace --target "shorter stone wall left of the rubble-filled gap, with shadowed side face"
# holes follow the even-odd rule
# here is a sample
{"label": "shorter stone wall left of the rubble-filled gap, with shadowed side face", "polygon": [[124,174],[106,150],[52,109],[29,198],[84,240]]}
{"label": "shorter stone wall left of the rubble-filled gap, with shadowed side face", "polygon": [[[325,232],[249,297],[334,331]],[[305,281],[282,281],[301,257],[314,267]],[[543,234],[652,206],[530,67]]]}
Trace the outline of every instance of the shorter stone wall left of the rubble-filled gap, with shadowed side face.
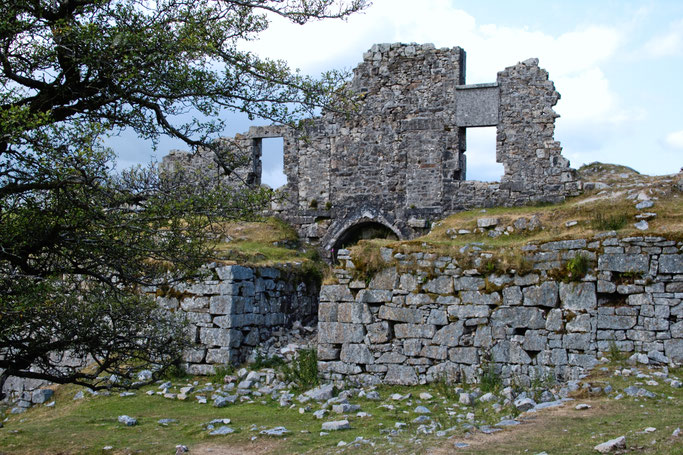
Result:
{"label": "shorter stone wall left of the rubble-filled gap, with shadowed side face", "polygon": [[157,303],[183,312],[195,346],[184,354],[190,374],[244,362],[276,332],[315,322],[319,280],[296,267],[213,266],[212,279],[156,291]]}

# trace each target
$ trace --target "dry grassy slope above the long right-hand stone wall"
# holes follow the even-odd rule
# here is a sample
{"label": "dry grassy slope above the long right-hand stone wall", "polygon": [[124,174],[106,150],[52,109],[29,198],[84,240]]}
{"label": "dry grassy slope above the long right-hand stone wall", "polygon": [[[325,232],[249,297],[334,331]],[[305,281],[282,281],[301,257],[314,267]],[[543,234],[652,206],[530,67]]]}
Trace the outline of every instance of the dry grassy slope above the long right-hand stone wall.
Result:
{"label": "dry grassy slope above the long right-hand stone wall", "polygon": [[[620,236],[661,235],[674,240],[683,239],[683,197],[673,189],[671,183],[664,177],[649,177],[635,173],[623,166],[593,163],[582,172],[589,172],[586,181],[595,176],[590,171],[602,173],[598,180],[612,183],[610,192],[605,194],[586,193],[571,198],[561,204],[535,205],[525,207],[496,207],[487,209],[473,209],[451,215],[433,224],[427,235],[407,241],[366,240],[352,248],[354,263],[361,262],[359,274],[369,275],[370,272],[381,267],[376,259],[376,251],[380,247],[389,247],[394,252],[405,254],[414,252],[434,253],[436,255],[458,257],[462,256],[460,249],[473,242],[480,243],[485,251],[495,252],[492,261],[480,267],[480,271],[505,272],[510,269],[526,268],[520,255],[519,247],[528,243],[544,243],[556,240],[591,238],[604,231],[615,230]],[[612,172],[613,171],[613,172]],[[628,179],[620,177],[629,174]],[[632,184],[642,184],[633,187]],[[631,184],[628,186],[627,184]],[[622,190],[620,185],[624,186]],[[627,199],[628,191],[650,191],[650,196],[656,197],[655,206],[643,211],[655,212],[657,216],[648,220],[649,229],[639,231],[634,224],[635,215],[641,211],[635,208],[633,198]],[[542,228],[529,230],[515,230],[498,237],[488,236],[488,232],[476,232],[477,219],[494,217],[500,220],[500,226],[512,226],[515,220],[536,217]],[[566,223],[573,221],[575,225],[567,227]],[[456,235],[459,230],[472,231],[471,234]],[[374,250],[374,251],[373,251]],[[506,255],[506,257],[504,257]],[[495,263],[498,261],[498,263]],[[380,261],[381,262],[381,261]]]}

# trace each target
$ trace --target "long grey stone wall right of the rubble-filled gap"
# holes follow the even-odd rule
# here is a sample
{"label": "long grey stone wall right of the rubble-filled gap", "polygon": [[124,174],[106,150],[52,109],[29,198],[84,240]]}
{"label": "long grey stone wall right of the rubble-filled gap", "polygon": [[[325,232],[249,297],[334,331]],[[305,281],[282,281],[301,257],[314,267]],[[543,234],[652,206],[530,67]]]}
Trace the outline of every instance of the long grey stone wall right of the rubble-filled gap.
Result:
{"label": "long grey stone wall right of the rubble-filled gap", "polygon": [[[383,249],[386,268],[367,284],[342,252],[340,284],[320,294],[319,369],[327,379],[417,384],[474,381],[490,365],[528,384],[575,379],[612,349],[681,363],[682,252],[683,242],[660,237],[600,235],[527,245],[529,273],[484,274],[475,267],[491,253]],[[593,266],[569,281],[578,255]]]}

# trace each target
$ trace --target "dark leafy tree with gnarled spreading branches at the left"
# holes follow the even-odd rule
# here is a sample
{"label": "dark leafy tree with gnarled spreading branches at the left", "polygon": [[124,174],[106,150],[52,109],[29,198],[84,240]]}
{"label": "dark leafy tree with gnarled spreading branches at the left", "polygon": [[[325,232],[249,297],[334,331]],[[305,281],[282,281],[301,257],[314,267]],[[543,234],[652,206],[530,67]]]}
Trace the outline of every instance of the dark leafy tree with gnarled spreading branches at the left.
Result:
{"label": "dark leafy tree with gnarled spreading branches at the left", "polygon": [[[319,80],[240,50],[267,14],[304,24],[366,0],[0,2],[0,390],[8,376],[107,386],[169,365],[182,321],[140,286],[198,273],[217,220],[253,215],[263,191],[190,185],[155,166],[115,172],[108,134],[214,150],[223,110],[290,123],[334,108]],[[194,113],[203,120],[180,121]],[[193,179],[201,176],[193,176]],[[68,358],[65,358],[68,357]],[[78,362],[91,362],[82,369]]]}

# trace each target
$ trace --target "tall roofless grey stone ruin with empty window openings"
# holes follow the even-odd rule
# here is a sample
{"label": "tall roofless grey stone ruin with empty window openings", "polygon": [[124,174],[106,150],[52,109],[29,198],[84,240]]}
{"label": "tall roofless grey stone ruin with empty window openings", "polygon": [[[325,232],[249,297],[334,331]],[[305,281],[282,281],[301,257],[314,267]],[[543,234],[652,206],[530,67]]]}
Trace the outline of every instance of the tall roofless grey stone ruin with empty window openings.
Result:
{"label": "tall roofless grey stone ruin with empty window openings", "polygon": [[[537,59],[466,85],[460,47],[376,44],[353,72],[353,115],[326,111],[298,128],[222,139],[243,158],[231,176],[210,154],[172,151],[162,165],[260,185],[262,139],[282,137],[287,184],[273,213],[328,255],[368,232],[407,239],[461,210],[559,202],[581,190],[553,138],[560,94]],[[496,183],[466,179],[467,128],[485,126],[497,128]]]}

